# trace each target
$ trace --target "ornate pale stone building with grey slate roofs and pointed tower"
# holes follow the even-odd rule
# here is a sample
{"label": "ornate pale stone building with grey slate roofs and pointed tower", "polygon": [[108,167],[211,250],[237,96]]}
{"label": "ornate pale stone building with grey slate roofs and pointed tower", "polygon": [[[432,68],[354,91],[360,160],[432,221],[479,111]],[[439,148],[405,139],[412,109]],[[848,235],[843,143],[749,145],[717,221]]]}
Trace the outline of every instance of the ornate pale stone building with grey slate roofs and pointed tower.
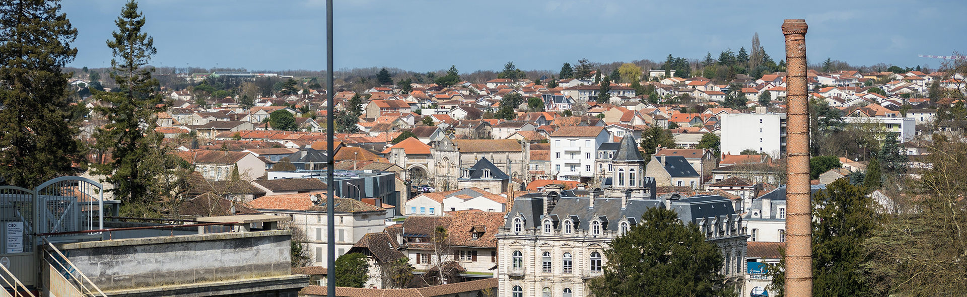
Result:
{"label": "ornate pale stone building with grey slate roofs and pointed tower", "polygon": [[655,179],[641,174],[644,160],[633,137],[622,139],[611,162],[603,189],[551,190],[514,200],[497,234],[498,296],[588,296],[587,281],[601,276],[607,264],[603,251],[650,207],[675,210],[682,222],[698,224],[723,254],[726,284],[742,285],[747,235],[728,198],[657,197]]}

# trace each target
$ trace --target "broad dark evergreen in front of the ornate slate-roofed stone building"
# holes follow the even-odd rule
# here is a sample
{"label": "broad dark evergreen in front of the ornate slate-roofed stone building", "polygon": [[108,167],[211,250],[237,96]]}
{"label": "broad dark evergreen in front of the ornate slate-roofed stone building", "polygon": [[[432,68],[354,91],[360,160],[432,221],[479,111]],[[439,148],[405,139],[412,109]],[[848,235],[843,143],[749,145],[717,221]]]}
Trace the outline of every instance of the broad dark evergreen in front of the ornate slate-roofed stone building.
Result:
{"label": "broad dark evergreen in front of the ornate slate-roofed stone building", "polygon": [[601,277],[592,279],[595,296],[731,296],[722,285],[722,255],[694,223],[673,210],[652,207],[641,223],[611,241]]}

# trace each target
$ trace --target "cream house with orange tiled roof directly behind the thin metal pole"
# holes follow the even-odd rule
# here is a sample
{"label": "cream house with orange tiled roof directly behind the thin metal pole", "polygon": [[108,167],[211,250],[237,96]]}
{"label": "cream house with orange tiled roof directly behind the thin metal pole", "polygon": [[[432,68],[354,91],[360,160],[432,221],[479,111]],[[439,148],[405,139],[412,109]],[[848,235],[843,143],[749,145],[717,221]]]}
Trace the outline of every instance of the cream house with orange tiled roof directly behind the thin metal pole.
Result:
{"label": "cream house with orange tiled roof directly behind the thin metal pole", "polygon": [[[315,196],[313,202],[310,196]],[[377,208],[356,199],[336,198],[336,256],[346,253],[366,233],[382,232],[386,228],[386,209]],[[328,218],[326,193],[293,193],[262,196],[251,200],[249,207],[266,215],[292,218],[293,241],[307,245],[308,266],[325,266],[328,254]]]}

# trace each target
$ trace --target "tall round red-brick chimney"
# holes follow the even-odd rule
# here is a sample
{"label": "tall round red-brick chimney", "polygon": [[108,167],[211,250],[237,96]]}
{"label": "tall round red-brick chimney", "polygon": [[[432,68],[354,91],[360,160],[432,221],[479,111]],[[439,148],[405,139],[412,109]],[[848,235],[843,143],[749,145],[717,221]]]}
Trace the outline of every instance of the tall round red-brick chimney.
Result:
{"label": "tall round red-brick chimney", "polygon": [[786,281],[785,295],[812,296],[812,222],[809,206],[809,102],[806,98],[805,19],[786,19],[782,35],[786,45],[788,86],[788,141],[786,158]]}

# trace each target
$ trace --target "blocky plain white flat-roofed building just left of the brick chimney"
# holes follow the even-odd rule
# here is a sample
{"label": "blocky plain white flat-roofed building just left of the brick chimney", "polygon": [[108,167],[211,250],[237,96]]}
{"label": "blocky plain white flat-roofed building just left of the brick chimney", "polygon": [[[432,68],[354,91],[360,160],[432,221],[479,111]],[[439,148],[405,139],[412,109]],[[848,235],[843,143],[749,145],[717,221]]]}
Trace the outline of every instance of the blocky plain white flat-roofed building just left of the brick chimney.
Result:
{"label": "blocky plain white flat-roofed building just left of the brick chimney", "polygon": [[753,150],[774,158],[785,155],[785,113],[722,114],[719,127],[721,144],[718,148],[722,154],[738,155]]}

